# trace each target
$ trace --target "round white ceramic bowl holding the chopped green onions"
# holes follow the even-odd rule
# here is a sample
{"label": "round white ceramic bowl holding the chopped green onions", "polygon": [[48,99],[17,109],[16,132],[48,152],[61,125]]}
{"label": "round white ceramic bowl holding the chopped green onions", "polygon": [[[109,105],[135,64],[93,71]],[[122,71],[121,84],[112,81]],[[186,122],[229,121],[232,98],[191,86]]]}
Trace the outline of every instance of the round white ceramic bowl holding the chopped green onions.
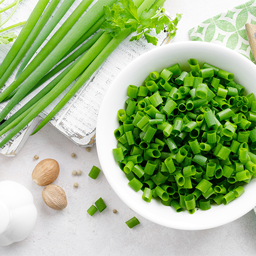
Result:
{"label": "round white ceramic bowl holding the chopped green onions", "polygon": [[256,66],[241,54],[207,42],[184,41],[161,46],[136,58],[114,80],[99,111],[96,141],[104,175],[127,206],[157,224],[176,229],[199,230],[229,223],[255,207],[256,179],[244,186],[245,193],[241,197],[227,205],[214,205],[206,211],[197,210],[193,215],[187,211],[177,213],[172,207],[164,206],[158,200],[152,199],[151,203],[143,201],[142,191],[136,193],[127,185],[128,180],[112,155],[112,149],[117,144],[114,137],[114,130],[119,126],[117,111],[124,108],[129,84],[140,86],[150,72],[161,71],[177,62],[182,69],[188,69],[189,58],[232,72],[234,81],[242,84],[246,93],[253,92],[256,95]]}

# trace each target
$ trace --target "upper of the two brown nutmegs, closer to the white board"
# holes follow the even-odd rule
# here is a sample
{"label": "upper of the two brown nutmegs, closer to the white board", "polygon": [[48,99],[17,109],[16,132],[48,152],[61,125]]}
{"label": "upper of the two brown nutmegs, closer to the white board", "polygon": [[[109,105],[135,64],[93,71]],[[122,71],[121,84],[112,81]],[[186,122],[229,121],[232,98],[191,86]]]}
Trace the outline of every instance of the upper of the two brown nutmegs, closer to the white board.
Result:
{"label": "upper of the two brown nutmegs, closer to the white board", "polygon": [[40,161],[32,172],[32,180],[39,186],[46,186],[57,179],[59,175],[59,164],[54,159]]}

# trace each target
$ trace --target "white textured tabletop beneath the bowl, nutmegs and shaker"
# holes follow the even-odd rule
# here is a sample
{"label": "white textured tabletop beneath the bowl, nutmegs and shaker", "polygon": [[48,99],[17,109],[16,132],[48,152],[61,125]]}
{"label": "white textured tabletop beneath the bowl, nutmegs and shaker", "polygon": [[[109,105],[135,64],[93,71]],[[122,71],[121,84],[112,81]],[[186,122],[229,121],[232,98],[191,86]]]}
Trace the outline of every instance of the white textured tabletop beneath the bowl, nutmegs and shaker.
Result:
{"label": "white textured tabletop beneath the bowl, nutmegs and shaker", "polygon": [[[26,1],[26,0],[24,0]],[[175,41],[189,40],[188,29],[243,0],[167,0],[172,13],[183,13]],[[76,158],[71,157],[76,154]],[[34,160],[34,155],[39,159]],[[54,182],[67,194],[68,206],[55,211],[41,199],[43,187],[36,185],[31,173],[37,162],[53,158],[59,162],[60,174]],[[33,194],[38,219],[30,236],[22,242],[0,247],[0,255],[255,255],[256,217],[253,211],[218,228],[181,231],[154,224],[138,216],[114,193],[103,172],[97,180],[88,177],[93,165],[100,167],[96,146],[91,152],[71,142],[54,127],[46,125],[30,137],[14,158],[0,155],[0,180],[25,185]],[[82,170],[72,176],[72,170]],[[79,184],[78,188],[73,186]],[[87,209],[102,197],[108,206],[91,217]],[[117,209],[117,214],[112,210]],[[125,221],[137,216],[141,224],[127,228]]]}

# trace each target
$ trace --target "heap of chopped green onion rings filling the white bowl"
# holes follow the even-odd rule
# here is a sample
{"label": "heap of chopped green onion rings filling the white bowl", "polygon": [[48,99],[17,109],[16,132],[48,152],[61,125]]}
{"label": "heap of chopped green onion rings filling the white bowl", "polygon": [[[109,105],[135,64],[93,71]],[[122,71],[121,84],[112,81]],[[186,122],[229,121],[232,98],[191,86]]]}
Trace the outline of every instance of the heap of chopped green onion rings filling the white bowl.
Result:
{"label": "heap of chopped green onion rings filling the white bowl", "polygon": [[130,85],[113,155],[142,199],[177,212],[228,204],[256,176],[256,101],[234,75],[196,59]]}

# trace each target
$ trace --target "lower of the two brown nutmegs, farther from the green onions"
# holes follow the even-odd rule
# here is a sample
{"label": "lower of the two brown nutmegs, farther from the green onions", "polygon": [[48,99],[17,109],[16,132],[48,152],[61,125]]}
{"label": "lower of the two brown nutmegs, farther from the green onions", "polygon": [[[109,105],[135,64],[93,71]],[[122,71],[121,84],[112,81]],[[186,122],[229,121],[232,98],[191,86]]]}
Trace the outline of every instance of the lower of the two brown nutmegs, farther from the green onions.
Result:
{"label": "lower of the two brown nutmegs, farther from the green onions", "polygon": [[63,210],[68,205],[65,191],[53,184],[42,190],[42,200],[54,210]]}

